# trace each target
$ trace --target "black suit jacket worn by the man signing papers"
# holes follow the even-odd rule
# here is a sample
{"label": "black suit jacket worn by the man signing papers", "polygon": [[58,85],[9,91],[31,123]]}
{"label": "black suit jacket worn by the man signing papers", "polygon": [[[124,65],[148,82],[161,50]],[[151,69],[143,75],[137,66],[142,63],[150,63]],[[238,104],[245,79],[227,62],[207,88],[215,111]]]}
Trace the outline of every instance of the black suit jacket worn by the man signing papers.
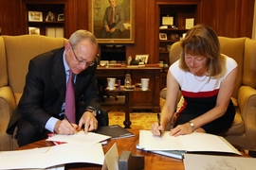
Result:
{"label": "black suit jacket worn by the man signing papers", "polygon": [[[26,85],[18,108],[13,112],[7,132],[12,134],[21,116],[43,131],[48,119],[60,118],[65,96],[64,48],[55,49],[29,61]],[[75,83],[77,122],[87,106],[100,110],[96,78],[97,64],[77,75]],[[80,104],[82,108],[79,108]]]}

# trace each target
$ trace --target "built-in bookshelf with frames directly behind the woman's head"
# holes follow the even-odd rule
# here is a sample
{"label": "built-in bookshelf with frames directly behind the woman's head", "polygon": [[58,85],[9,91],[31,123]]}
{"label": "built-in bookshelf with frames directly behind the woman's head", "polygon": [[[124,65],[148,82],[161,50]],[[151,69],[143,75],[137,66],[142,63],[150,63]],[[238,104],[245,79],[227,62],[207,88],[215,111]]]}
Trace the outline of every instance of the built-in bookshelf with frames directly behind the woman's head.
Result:
{"label": "built-in bookshelf with frames directly behind the woman's head", "polygon": [[[188,31],[186,20],[195,20],[196,5],[161,4],[159,8],[159,61],[170,66],[169,49]],[[188,20],[187,20],[188,21]],[[187,23],[188,24],[188,23]],[[195,22],[193,23],[195,24]]]}

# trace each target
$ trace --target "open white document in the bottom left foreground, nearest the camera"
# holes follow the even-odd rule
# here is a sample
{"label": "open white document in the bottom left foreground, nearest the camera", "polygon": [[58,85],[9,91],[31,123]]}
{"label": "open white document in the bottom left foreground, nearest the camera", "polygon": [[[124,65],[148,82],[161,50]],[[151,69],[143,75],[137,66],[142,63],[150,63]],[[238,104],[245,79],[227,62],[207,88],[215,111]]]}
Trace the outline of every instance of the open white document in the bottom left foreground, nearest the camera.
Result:
{"label": "open white document in the bottom left foreground, nearest the camera", "polygon": [[103,164],[104,153],[100,143],[90,146],[59,144],[27,150],[0,152],[0,169],[47,168],[70,162]]}

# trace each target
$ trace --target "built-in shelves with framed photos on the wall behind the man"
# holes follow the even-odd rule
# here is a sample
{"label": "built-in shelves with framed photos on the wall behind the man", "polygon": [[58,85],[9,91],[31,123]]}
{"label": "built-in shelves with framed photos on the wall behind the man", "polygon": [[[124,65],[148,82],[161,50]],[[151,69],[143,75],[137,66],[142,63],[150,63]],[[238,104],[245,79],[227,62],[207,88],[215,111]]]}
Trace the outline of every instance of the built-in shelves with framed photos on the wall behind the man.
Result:
{"label": "built-in shelves with framed photos on the wall behind the man", "polygon": [[64,37],[65,1],[23,0],[27,34]]}

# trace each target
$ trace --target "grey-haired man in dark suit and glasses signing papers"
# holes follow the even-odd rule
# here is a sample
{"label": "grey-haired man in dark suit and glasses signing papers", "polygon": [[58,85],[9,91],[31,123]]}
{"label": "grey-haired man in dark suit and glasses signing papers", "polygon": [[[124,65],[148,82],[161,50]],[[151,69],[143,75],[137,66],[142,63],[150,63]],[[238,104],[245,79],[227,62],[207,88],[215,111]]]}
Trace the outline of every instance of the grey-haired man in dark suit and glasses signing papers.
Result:
{"label": "grey-haired man in dark suit and glasses signing papers", "polygon": [[[25,145],[46,138],[49,132],[74,134],[108,124],[107,112],[101,110],[95,58],[98,42],[85,30],[74,32],[63,48],[41,54],[29,61],[24,93],[9,121],[7,133]],[[73,73],[76,120],[65,115],[65,90],[69,70]],[[69,99],[67,99],[69,100]]]}

